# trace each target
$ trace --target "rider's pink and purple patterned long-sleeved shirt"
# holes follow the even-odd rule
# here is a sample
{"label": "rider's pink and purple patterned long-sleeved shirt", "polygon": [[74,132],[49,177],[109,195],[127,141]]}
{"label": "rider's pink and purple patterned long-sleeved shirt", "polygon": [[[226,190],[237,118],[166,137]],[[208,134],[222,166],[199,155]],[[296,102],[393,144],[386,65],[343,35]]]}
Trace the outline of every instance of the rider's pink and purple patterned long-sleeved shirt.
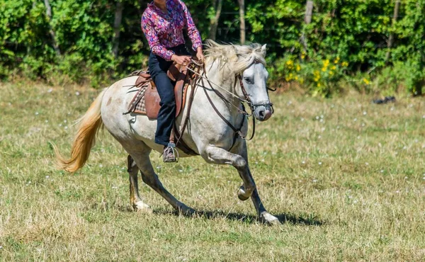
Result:
{"label": "rider's pink and purple patterned long-sleeved shirt", "polygon": [[184,44],[183,28],[188,29],[192,48],[196,51],[202,45],[202,41],[186,5],[181,0],[166,0],[166,10],[168,13],[152,2],[147,5],[142,16],[142,30],[152,53],[171,60],[174,52],[167,50],[166,47]]}

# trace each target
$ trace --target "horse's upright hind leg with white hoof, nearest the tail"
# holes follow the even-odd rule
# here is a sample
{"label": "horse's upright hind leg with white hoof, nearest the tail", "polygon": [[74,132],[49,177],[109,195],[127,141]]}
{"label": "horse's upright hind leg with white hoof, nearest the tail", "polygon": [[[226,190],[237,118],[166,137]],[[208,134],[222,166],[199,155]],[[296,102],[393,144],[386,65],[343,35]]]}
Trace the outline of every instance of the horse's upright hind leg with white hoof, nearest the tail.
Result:
{"label": "horse's upright hind leg with white hoof, nearest the tail", "polygon": [[130,178],[130,203],[134,210],[143,210],[152,212],[149,208],[149,205],[143,203],[142,198],[139,195],[139,183],[137,181],[137,174],[139,173],[139,168],[137,167],[135,161],[130,155],[127,157],[128,163],[128,176]]}

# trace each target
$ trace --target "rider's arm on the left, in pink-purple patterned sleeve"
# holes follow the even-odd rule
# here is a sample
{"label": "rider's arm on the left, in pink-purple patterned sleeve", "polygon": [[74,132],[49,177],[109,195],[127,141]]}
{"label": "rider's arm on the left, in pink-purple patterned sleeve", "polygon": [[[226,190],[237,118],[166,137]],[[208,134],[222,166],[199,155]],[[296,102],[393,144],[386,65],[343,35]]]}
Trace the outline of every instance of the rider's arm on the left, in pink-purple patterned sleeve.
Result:
{"label": "rider's arm on the left, in pink-purple patterned sleeve", "polygon": [[149,43],[149,47],[152,53],[170,61],[171,57],[174,55],[174,52],[167,50],[164,45],[161,45],[157,32],[155,32],[154,26],[152,24],[152,20],[149,18],[147,12],[143,13],[142,16],[142,31],[145,33],[145,37]]}

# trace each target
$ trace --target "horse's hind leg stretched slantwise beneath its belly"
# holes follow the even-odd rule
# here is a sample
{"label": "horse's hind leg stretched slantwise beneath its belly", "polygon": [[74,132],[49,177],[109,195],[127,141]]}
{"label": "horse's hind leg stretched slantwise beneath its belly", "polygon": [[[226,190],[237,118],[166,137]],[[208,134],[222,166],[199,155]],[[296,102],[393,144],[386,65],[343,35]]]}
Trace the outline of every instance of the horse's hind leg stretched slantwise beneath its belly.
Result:
{"label": "horse's hind leg stretched slantwise beneath its belly", "polygon": [[184,205],[174,198],[174,195],[171,195],[171,193],[162,186],[161,181],[159,181],[159,178],[152,167],[149,159],[149,152],[134,152],[131,155],[142,173],[143,182],[147,183],[148,186],[157,191],[159,195],[162,195],[162,197],[179,212],[182,212],[185,215],[192,215],[195,212],[195,210],[191,207]]}

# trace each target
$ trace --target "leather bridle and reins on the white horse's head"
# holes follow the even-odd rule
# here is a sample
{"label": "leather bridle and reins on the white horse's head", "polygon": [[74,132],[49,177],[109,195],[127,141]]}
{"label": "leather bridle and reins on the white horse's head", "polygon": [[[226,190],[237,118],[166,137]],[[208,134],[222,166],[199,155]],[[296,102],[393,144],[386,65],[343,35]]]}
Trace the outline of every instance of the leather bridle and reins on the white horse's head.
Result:
{"label": "leather bridle and reins on the white horse's head", "polygon": [[[237,82],[238,82],[237,79],[238,79],[239,80],[239,86],[241,88],[241,91],[242,91],[245,99],[240,98],[235,93],[232,93],[232,92],[228,91],[227,89],[222,88],[222,86],[220,86],[218,84],[215,84],[214,82],[210,81],[210,79],[208,79],[208,76],[206,75],[205,64],[198,64],[196,61],[193,61],[193,59],[192,59],[191,63],[195,64],[198,68],[200,68],[200,67],[203,68],[203,73],[202,74],[199,74],[199,70],[198,70],[198,72],[196,72],[195,70],[191,69],[190,67],[187,67],[187,69],[189,71],[191,71],[193,74],[196,74],[200,78],[200,81],[202,81],[202,83],[203,83],[202,86],[203,86],[203,90],[205,92],[205,96],[207,96],[208,101],[210,102],[212,108],[215,110],[215,113],[217,113],[217,115],[219,115],[220,118],[222,118],[222,120],[234,131],[235,136],[234,136],[234,139],[233,139],[233,145],[236,142],[237,135],[239,135],[239,137],[241,137],[242,139],[246,139],[246,136],[242,134],[242,131],[241,130],[242,130],[242,127],[244,126],[245,118],[248,119],[250,116],[252,116],[253,113],[254,113],[254,110],[256,110],[256,108],[258,108],[259,106],[269,107],[269,108],[271,108],[272,113],[274,112],[273,103],[271,103],[271,102],[252,103],[251,98],[249,98],[249,94],[246,92],[246,89],[245,89],[245,86],[244,86],[244,82],[242,81],[241,74],[236,74],[234,76],[234,90],[236,90]],[[256,61],[254,61],[254,63],[256,63]],[[241,113],[242,115],[244,115],[244,118],[242,118],[242,123],[239,126],[239,128],[234,127],[234,125],[232,125],[232,123],[229,123],[229,120],[227,120],[220,113],[220,110],[218,110],[215,107],[214,103],[212,103],[212,100],[211,100],[210,96],[208,95],[208,92],[206,91],[206,88],[205,88],[205,85],[204,85],[204,82],[203,82],[204,79],[208,82],[208,85],[210,86],[210,89],[212,91],[214,91],[214,93],[218,97],[220,97],[222,99],[222,101],[225,101],[225,103],[229,104],[230,106],[233,106],[234,108],[237,108],[237,111],[239,113]],[[234,103],[232,103],[231,101],[229,101],[222,93],[220,93],[220,91],[217,91],[217,89],[213,88],[212,87],[212,84],[215,85],[215,86],[217,86],[218,88],[222,89],[223,91],[229,93],[234,98],[237,98],[237,100],[242,105],[242,109],[239,108],[239,106],[235,106]],[[267,90],[268,91],[276,91],[276,89],[273,90],[273,89],[269,89],[268,87],[267,87]],[[246,112],[245,107],[244,107],[244,103],[246,103],[249,106],[249,109],[251,110],[251,113],[247,113]],[[252,117],[252,125],[253,125],[253,127],[252,127],[251,137],[249,137],[249,139],[246,139],[246,140],[251,140],[251,139],[254,138],[254,135],[255,135],[255,118],[254,118],[254,116]],[[232,145],[232,147],[233,147],[233,145]]]}

